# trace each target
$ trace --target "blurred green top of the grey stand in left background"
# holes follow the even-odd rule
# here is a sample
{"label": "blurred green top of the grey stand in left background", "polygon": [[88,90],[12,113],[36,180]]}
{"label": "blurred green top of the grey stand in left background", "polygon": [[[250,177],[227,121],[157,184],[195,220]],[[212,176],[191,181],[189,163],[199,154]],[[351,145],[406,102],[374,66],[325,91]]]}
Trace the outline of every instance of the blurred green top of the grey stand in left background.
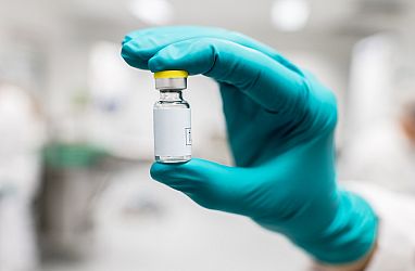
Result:
{"label": "blurred green top of the grey stand in left background", "polygon": [[108,153],[86,143],[51,143],[43,152],[46,165],[53,168],[88,168],[97,165]]}

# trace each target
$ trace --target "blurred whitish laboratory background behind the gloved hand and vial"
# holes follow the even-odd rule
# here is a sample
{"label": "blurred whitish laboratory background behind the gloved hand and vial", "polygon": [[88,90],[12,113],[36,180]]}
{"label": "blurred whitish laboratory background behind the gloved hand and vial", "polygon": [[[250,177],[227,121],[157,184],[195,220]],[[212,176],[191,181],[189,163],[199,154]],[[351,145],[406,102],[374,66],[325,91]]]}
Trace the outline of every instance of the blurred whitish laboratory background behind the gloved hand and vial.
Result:
{"label": "blurred whitish laboratory background behind the gloved hand and vial", "polygon": [[[414,195],[413,0],[0,0],[1,271],[307,266],[284,237],[150,179],[158,93],[121,41],[183,24],[312,70],[338,98],[339,178]],[[216,83],[191,77],[185,95],[193,155],[231,165]]]}

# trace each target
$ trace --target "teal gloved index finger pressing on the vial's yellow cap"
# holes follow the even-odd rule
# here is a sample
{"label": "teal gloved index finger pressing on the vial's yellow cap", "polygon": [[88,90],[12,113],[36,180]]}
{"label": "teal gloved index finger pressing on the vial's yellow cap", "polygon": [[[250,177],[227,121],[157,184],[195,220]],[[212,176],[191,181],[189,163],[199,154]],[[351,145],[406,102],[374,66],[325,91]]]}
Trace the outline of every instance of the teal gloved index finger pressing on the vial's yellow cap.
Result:
{"label": "teal gloved index finger pressing on the vial's yellow cap", "polygon": [[305,79],[271,57],[235,42],[203,38],[185,40],[160,50],[149,61],[152,72],[185,69],[203,74],[240,91],[275,112],[298,112],[306,101]]}

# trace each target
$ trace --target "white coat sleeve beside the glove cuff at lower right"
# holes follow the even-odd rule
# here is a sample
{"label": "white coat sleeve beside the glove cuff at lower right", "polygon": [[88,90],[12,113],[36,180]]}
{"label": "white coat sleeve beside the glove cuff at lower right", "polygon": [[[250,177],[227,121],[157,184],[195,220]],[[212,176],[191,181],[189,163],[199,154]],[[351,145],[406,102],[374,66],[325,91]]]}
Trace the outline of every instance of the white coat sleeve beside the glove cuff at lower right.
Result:
{"label": "white coat sleeve beside the glove cuff at lower right", "polygon": [[415,270],[415,197],[368,182],[345,182],[380,219],[379,243],[367,271]]}

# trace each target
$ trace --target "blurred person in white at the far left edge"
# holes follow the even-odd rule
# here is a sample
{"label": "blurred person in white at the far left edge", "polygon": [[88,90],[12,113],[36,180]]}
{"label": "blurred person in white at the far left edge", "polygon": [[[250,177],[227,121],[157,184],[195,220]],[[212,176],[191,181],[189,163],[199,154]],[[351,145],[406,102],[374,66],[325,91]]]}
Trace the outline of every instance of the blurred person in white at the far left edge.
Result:
{"label": "blurred person in white at the far left edge", "polygon": [[23,89],[0,83],[0,270],[38,266],[32,205],[40,181],[43,121]]}

